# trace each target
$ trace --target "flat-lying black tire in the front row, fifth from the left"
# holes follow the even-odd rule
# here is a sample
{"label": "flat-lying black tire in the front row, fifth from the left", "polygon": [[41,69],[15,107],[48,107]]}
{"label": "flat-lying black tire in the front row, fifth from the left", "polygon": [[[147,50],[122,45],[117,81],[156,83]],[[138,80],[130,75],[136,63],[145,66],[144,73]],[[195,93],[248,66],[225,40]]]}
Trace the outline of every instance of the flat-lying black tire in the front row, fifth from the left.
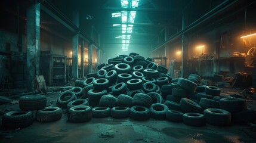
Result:
{"label": "flat-lying black tire in the front row, fifth from the left", "polygon": [[118,119],[127,118],[129,117],[129,107],[113,107],[111,108],[110,116]]}

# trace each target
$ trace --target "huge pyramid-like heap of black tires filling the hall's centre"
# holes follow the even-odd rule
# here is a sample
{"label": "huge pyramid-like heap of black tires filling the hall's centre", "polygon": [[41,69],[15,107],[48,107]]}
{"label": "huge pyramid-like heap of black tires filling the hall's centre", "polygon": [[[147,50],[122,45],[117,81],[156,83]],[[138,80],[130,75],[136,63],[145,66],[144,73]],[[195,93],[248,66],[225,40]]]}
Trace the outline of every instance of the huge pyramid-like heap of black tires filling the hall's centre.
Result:
{"label": "huge pyramid-like heap of black tires filling the hall's centre", "polygon": [[[70,122],[108,116],[166,119],[190,126],[254,122],[255,112],[246,107],[242,98],[221,97],[219,88],[201,85],[201,77],[196,74],[190,74],[188,79],[172,79],[167,71],[152,58],[145,59],[131,52],[100,64],[97,72],[87,74],[85,80],[76,80],[74,87],[63,87],[66,91],[58,95],[57,107],[35,109],[26,104],[28,107],[24,109],[22,97],[20,107],[21,110],[38,110],[39,122],[59,120],[61,108],[67,109]],[[4,115],[3,123],[7,120]]]}

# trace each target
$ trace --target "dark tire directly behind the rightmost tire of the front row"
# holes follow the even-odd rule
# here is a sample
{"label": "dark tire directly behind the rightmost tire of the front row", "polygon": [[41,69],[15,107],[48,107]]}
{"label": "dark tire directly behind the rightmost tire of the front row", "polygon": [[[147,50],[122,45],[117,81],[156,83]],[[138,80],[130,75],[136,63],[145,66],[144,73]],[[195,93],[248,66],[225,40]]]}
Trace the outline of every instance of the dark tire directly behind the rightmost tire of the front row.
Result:
{"label": "dark tire directly behind the rightmost tire of the front row", "polygon": [[237,113],[246,110],[247,105],[242,98],[223,98],[220,100],[220,108],[230,113]]}

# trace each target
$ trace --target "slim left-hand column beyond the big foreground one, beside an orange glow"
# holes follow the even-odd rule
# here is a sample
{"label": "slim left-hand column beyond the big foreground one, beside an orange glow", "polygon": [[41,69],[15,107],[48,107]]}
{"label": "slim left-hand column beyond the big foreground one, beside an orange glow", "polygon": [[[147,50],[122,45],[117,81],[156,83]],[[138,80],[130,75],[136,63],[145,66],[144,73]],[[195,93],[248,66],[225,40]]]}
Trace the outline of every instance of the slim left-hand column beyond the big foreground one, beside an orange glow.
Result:
{"label": "slim left-hand column beyond the big foreground one, beside an orange glow", "polygon": [[[78,11],[73,12],[73,24],[78,26],[79,24],[79,16]],[[78,43],[79,35],[75,33],[72,38],[72,76],[73,78],[78,78]]]}

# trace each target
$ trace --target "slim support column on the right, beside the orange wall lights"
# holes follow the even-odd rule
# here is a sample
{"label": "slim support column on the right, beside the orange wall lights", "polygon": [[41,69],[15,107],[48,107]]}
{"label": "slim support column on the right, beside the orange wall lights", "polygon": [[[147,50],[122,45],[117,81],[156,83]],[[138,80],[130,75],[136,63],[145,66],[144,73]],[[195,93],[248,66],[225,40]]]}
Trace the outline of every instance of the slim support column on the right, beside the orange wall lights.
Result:
{"label": "slim support column on the right, beside the orange wall lights", "polygon": [[[187,27],[187,15],[183,14],[182,17],[182,30]],[[181,77],[187,78],[188,77],[188,43],[189,43],[189,36],[184,33],[181,37]]]}

